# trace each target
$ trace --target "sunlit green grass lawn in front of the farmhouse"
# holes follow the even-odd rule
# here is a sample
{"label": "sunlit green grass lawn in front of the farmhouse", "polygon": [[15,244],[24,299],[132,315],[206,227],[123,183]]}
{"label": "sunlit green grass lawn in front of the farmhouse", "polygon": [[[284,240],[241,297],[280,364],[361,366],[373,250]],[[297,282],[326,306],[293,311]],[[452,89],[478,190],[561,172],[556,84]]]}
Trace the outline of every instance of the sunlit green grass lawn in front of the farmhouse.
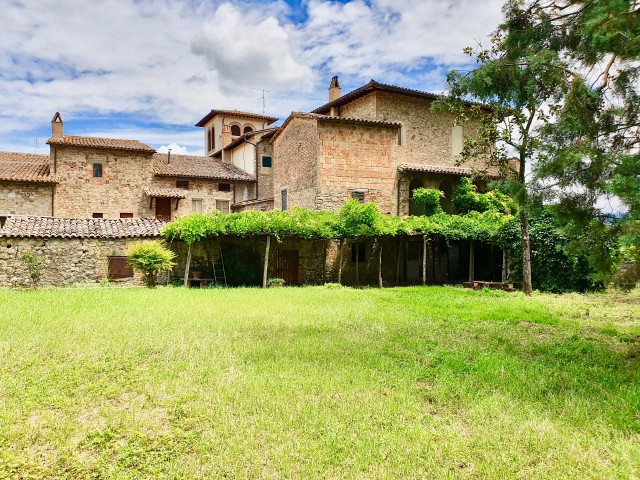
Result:
{"label": "sunlit green grass lawn in front of the farmhouse", "polygon": [[0,291],[0,479],[638,478],[640,297]]}

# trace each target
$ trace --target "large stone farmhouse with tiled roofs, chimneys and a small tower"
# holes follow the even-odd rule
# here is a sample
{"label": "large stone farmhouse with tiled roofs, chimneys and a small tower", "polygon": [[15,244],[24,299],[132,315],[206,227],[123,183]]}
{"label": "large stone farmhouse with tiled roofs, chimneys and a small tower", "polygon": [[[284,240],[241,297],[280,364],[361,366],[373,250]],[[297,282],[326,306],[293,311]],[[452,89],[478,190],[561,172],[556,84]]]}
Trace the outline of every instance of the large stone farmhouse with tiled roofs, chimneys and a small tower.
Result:
{"label": "large stone farmhouse with tiled roofs, chimneys and a small tower", "polygon": [[[114,220],[120,222],[119,231],[126,232],[117,238],[132,239],[139,236],[133,222],[140,220],[159,221],[152,224],[151,235],[159,236],[162,222],[192,212],[293,206],[328,210],[340,208],[350,198],[376,202],[388,214],[419,214],[411,200],[419,187],[442,190],[443,208],[453,212],[454,185],[480,165],[458,165],[465,126],[454,125],[447,113],[432,112],[437,98],[373,80],[342,95],[334,77],[328,103],[311,112],[293,112],[279,127],[273,126],[275,117],[211,110],[196,123],[204,133],[203,157],[160,154],[137,140],[67,135],[56,113],[49,155],[0,152],[0,261],[11,256],[16,238],[34,242],[66,238],[69,229],[76,240],[104,238],[112,246],[120,245],[110,234],[86,233],[105,232]],[[497,175],[488,172],[489,177]],[[13,217],[40,220],[21,223]],[[76,225],[71,220],[52,223],[45,217],[85,220],[76,220]],[[22,235],[20,225],[27,224],[30,227]],[[462,243],[433,247],[429,281],[467,279],[470,252]],[[106,256],[122,257],[123,248],[113,247]],[[333,258],[332,248],[328,247],[325,263]],[[354,250],[352,262],[366,264],[372,248],[362,245]],[[422,251],[419,241],[398,247],[397,262],[388,266],[394,272],[391,276],[401,282],[420,281]],[[286,249],[283,245],[276,255],[274,276],[293,284],[331,281],[327,275],[333,267],[315,265],[317,255],[303,245],[289,243]],[[98,257],[105,257],[104,252]],[[102,266],[91,276],[106,278],[122,270],[121,263],[109,268],[98,257],[95,262]],[[481,263],[475,270],[489,277],[499,271],[502,259],[486,246],[474,261]],[[311,271],[315,273],[307,274]],[[323,272],[320,279],[318,271]],[[347,266],[347,281],[349,272]],[[366,281],[366,268],[360,272]],[[0,283],[7,280],[0,276]]]}

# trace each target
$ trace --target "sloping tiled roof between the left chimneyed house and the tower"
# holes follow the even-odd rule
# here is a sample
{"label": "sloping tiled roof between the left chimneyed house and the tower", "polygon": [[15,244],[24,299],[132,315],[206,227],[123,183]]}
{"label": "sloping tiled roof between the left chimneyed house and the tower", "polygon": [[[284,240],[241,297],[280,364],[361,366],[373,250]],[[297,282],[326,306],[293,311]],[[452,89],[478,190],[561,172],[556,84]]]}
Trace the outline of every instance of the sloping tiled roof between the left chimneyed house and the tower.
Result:
{"label": "sloping tiled roof between the left chimneyed house and the tower", "polygon": [[235,165],[211,157],[171,155],[156,153],[153,156],[153,173],[160,177],[209,178],[237,182],[255,181],[251,175]]}

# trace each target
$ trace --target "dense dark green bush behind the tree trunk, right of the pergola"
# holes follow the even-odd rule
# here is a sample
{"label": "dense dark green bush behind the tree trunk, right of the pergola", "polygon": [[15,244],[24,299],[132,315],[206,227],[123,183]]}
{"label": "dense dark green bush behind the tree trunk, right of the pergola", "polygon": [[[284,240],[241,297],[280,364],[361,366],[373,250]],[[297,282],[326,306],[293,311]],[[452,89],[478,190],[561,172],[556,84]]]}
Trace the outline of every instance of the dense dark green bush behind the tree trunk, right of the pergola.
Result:
{"label": "dense dark green bush behind the tree trunk, right of the pergola", "polygon": [[[547,207],[530,214],[529,232],[534,288],[584,292],[601,289],[610,278],[616,246],[606,230],[595,238],[569,229]],[[519,221],[505,225],[498,238],[498,244],[509,251],[514,283],[522,279],[521,241]]]}

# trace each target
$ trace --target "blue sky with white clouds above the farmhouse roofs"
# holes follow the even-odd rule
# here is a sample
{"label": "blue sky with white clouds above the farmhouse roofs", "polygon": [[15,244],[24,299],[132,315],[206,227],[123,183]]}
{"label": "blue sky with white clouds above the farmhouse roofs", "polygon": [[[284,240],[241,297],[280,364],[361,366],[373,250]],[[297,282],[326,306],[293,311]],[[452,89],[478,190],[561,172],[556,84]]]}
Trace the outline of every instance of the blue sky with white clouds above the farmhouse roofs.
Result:
{"label": "blue sky with white clouds above the farmhouse roofs", "polygon": [[[439,92],[462,49],[500,21],[486,0],[4,0],[0,150],[48,153],[65,133],[202,154],[211,108],[267,113],[326,102],[370,79]],[[36,149],[36,141],[38,147]]]}

